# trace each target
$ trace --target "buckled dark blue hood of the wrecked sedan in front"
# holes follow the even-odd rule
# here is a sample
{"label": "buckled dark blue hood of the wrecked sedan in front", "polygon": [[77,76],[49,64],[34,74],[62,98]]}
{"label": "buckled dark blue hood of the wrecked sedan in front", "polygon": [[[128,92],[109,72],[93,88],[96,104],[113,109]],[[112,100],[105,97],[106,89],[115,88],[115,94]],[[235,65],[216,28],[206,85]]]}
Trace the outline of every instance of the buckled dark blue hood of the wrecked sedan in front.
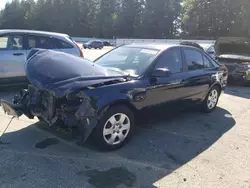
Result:
{"label": "buckled dark blue hood of the wrecked sedan in front", "polygon": [[47,90],[56,97],[95,84],[124,80],[126,77],[89,60],[43,49],[31,50],[25,71],[34,87]]}

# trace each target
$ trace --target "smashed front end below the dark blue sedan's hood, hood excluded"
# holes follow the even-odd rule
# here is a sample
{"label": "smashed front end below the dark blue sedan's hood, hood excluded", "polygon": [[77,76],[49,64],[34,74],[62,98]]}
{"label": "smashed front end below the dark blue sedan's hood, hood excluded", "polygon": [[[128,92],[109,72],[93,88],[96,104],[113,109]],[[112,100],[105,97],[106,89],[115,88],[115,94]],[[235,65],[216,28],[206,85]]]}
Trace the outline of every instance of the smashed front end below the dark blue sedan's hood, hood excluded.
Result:
{"label": "smashed front end below the dark blue sedan's hood, hood excluded", "polygon": [[37,116],[49,126],[61,128],[77,128],[81,142],[85,142],[98,124],[107,108],[98,111],[95,101],[86,96],[83,91],[71,94],[65,98],[56,98],[46,91],[39,91],[31,85],[21,91],[10,103],[1,100],[5,113],[19,118],[22,115],[33,119]]}

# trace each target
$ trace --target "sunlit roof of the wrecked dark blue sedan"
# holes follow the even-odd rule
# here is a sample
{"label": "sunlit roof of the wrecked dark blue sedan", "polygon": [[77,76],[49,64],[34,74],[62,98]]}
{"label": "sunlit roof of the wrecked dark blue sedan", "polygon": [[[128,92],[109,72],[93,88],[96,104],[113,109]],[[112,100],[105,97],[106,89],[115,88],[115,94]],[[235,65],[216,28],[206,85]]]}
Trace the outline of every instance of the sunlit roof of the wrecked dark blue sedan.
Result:
{"label": "sunlit roof of the wrecked dark blue sedan", "polygon": [[180,44],[125,44],[123,46],[135,47],[135,48],[147,48],[147,49],[154,49],[154,50],[160,50],[160,51],[165,51],[171,47],[185,47],[185,48],[193,48],[193,49],[200,50],[199,48],[196,48],[193,46],[180,45]]}

